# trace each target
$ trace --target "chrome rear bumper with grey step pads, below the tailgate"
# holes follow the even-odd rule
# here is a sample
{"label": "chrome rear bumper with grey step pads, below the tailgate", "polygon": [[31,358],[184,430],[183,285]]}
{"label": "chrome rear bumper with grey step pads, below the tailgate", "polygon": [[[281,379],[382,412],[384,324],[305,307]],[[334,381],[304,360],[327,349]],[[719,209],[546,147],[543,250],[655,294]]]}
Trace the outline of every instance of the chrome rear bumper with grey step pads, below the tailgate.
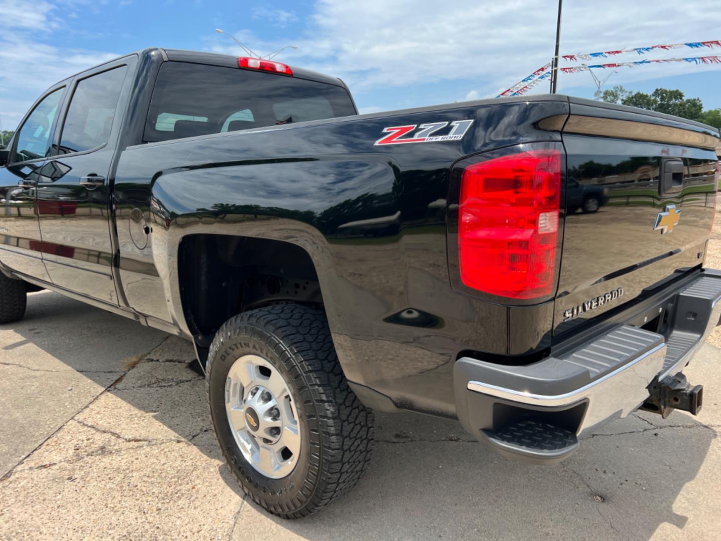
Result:
{"label": "chrome rear bumper with grey step pads, below the tailgate", "polygon": [[720,301],[721,273],[707,271],[674,297],[666,336],[622,324],[528,366],[461,358],[454,366],[459,419],[508,457],[564,459],[578,448],[577,436],[637,410],[652,382],[689,363],[719,322]]}

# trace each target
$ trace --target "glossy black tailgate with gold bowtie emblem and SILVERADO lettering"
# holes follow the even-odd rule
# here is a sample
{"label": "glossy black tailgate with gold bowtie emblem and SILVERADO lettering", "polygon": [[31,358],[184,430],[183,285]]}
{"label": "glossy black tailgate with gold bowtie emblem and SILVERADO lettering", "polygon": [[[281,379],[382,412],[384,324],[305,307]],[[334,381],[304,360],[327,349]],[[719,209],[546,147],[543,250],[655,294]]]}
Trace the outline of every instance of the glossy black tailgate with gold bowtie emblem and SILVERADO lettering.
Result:
{"label": "glossy black tailgate with gold bowtie emblem and SILVERADO lettering", "polygon": [[717,185],[714,128],[576,98],[570,107],[554,334],[702,265]]}

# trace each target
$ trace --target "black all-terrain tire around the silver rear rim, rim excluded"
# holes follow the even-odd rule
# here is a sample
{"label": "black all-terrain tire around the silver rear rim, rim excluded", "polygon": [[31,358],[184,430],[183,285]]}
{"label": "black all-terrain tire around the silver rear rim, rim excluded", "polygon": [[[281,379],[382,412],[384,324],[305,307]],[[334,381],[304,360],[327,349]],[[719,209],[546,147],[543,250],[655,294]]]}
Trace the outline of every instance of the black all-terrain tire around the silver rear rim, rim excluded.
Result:
{"label": "black all-terrain tire around the silver rear rim, rim excluded", "polygon": [[[229,369],[248,353],[280,371],[298,410],[301,452],[285,478],[267,478],[250,465],[226,416]],[[279,304],[231,317],[213,340],[205,382],[213,428],[231,473],[267,511],[286,519],[307,516],[348,492],[366,472],[373,413],[350,390],[320,310]]]}

